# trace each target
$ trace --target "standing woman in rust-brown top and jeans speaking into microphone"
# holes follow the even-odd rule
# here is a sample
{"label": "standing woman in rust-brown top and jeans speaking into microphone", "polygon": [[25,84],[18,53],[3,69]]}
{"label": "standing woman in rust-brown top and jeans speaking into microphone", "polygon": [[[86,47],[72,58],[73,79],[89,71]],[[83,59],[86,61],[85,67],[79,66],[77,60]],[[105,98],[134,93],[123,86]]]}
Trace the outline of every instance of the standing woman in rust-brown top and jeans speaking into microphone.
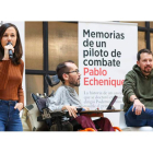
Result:
{"label": "standing woman in rust-brown top and jeans speaking into microphone", "polygon": [[0,26],[0,131],[23,131],[24,107],[22,44],[15,25]]}

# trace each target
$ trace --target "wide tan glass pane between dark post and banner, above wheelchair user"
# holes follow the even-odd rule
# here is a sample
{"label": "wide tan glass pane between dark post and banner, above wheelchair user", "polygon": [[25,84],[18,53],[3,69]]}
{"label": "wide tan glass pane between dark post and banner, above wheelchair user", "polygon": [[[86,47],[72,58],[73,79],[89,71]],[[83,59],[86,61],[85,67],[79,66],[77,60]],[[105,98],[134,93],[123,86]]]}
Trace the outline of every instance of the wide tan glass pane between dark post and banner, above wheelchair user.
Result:
{"label": "wide tan glass pane between dark post and banner, above wheelchair user", "polygon": [[66,60],[78,64],[78,24],[48,22],[48,51],[49,70]]}

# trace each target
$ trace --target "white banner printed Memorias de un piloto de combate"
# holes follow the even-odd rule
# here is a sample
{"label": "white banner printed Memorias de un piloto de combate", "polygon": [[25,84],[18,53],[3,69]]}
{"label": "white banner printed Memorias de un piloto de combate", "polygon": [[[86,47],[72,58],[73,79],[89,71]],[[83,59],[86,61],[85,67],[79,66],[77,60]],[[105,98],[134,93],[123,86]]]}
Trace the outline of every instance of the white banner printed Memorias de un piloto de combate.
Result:
{"label": "white banner printed Memorias de un piloto de combate", "polygon": [[[93,110],[106,109],[116,95],[118,98],[114,106],[119,109],[125,75],[137,63],[137,24],[80,22],[79,96],[82,104]],[[115,122],[118,123],[117,118]]]}

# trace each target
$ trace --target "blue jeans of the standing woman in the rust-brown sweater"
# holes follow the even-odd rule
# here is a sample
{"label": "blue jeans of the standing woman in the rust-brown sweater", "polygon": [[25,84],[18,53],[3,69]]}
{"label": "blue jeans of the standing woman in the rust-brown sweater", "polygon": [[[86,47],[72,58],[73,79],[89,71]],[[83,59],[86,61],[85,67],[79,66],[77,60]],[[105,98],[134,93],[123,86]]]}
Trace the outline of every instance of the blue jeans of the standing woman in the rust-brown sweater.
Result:
{"label": "blue jeans of the standing woman in the rust-brown sweater", "polygon": [[0,99],[0,131],[23,131],[16,101]]}

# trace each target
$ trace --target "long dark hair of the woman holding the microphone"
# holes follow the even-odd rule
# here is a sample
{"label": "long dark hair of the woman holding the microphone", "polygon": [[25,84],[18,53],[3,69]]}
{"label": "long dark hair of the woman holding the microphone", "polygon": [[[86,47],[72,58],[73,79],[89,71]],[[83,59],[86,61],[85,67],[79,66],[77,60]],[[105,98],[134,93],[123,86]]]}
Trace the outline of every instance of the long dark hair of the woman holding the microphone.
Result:
{"label": "long dark hair of the woman holding the microphone", "polygon": [[12,62],[14,64],[20,64],[22,55],[23,55],[23,50],[22,50],[22,44],[21,44],[21,38],[20,38],[20,34],[19,34],[19,30],[17,27],[12,24],[12,23],[5,23],[2,24],[0,26],[0,60],[2,60],[3,56],[4,56],[4,48],[1,45],[1,39],[3,37],[4,32],[7,31],[7,28],[9,27],[14,27],[16,31],[16,44],[14,46],[14,54],[13,54],[13,58],[12,58]]}

